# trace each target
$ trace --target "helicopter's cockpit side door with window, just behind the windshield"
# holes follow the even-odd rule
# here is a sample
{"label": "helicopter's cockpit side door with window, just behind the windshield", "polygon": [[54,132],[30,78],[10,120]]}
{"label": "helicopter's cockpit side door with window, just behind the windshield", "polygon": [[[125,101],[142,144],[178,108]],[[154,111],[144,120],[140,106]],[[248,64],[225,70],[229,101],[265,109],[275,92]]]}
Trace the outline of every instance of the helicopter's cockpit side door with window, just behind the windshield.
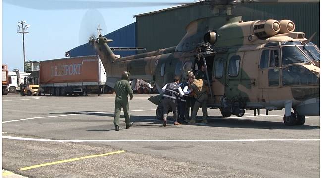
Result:
{"label": "helicopter's cockpit side door with window, just behind the windshield", "polygon": [[259,63],[258,88],[261,89],[261,102],[269,102],[269,91],[280,88],[280,50],[267,48],[262,50]]}

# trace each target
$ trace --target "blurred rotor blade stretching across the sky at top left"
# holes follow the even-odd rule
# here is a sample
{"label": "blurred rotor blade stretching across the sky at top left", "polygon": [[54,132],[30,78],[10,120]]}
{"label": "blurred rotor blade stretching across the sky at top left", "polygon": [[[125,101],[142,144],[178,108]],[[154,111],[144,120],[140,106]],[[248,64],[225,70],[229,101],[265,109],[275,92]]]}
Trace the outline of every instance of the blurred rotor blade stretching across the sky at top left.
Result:
{"label": "blurred rotor blade stretching across the sky at top left", "polygon": [[133,2],[133,1],[109,1],[109,0],[3,0],[3,2],[36,10],[67,10],[90,8],[124,8],[164,5],[183,5],[193,2]]}

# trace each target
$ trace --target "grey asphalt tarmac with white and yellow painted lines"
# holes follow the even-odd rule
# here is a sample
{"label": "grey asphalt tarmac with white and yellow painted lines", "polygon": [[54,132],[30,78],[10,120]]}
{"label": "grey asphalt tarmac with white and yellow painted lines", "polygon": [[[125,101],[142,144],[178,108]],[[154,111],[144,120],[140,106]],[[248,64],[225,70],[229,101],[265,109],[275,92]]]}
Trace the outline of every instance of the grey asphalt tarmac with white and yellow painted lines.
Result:
{"label": "grey asphalt tarmac with white and yellow painted lines", "polygon": [[170,113],[163,127],[149,97],[134,95],[133,126],[121,118],[115,132],[114,95],[4,95],[3,169],[28,178],[319,177],[319,116],[285,126],[282,110],[222,118],[208,109],[208,124],[174,126]]}

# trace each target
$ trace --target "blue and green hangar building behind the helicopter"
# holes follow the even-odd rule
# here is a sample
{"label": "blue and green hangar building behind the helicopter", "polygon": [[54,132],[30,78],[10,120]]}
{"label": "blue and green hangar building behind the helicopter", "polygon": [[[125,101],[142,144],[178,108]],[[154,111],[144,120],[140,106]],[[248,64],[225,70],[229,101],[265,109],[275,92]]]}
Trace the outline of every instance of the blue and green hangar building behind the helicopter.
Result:
{"label": "blue and green hangar building behind the helicopter", "polygon": [[[135,15],[136,23],[105,35],[113,42],[111,47],[144,47],[146,51],[176,46],[186,34],[186,26],[193,20],[213,16],[215,12],[205,5],[182,5],[145,14]],[[296,32],[304,32],[309,38],[314,32],[312,42],[320,46],[319,3],[250,3],[232,9],[233,15],[242,16],[243,21],[253,20],[292,20]],[[84,44],[70,51],[71,57],[93,55],[95,51]],[[142,53],[142,52],[140,52]],[[135,51],[115,52],[121,57],[134,55]]]}

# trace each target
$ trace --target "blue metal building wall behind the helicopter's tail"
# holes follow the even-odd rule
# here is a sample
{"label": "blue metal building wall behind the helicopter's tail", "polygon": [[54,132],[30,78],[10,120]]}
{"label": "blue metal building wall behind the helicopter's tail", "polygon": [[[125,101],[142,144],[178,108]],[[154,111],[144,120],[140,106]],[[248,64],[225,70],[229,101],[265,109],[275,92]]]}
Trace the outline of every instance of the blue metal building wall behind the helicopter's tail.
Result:
{"label": "blue metal building wall behind the helicopter's tail", "polygon": [[[113,42],[108,43],[110,47],[137,47],[136,46],[136,22],[122,27],[114,32],[104,35]],[[136,51],[114,51],[115,55],[121,57],[135,55]],[[70,57],[96,55],[95,50],[89,43],[75,47],[69,51]]]}

